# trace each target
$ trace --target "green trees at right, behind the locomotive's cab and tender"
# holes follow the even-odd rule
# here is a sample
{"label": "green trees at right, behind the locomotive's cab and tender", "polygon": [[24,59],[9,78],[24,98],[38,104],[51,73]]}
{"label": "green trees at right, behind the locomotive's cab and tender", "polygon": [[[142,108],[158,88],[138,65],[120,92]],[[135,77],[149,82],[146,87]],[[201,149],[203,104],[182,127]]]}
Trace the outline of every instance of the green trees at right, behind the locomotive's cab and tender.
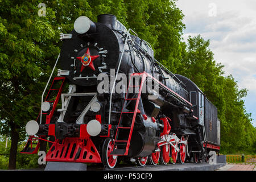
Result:
{"label": "green trees at right, behind the locomotive's cab and tender", "polygon": [[239,90],[232,75],[224,76],[224,66],[216,63],[209,45],[210,40],[200,35],[189,37],[178,72],[195,82],[217,107],[221,121],[221,152],[255,154],[256,130],[242,100],[247,90]]}

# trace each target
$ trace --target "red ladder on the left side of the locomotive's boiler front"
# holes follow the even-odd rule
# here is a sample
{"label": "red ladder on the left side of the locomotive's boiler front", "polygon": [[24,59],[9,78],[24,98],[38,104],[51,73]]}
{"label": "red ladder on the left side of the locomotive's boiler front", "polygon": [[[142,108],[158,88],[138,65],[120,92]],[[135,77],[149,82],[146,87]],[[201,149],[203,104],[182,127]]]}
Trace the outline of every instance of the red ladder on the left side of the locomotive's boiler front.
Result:
{"label": "red ladder on the left side of the locomotive's boiler front", "polygon": [[[46,124],[49,124],[51,119],[52,119],[52,115],[55,111],[55,108],[59,102],[59,98],[61,96],[61,92],[63,90],[64,87],[64,81],[65,81],[65,77],[55,77],[53,78],[52,81],[52,85],[49,88],[48,94],[46,96],[46,100],[47,102],[52,103],[52,109],[50,111],[48,111],[47,113],[42,113],[42,115],[46,115]],[[55,85],[57,84],[57,82],[60,82],[60,87],[59,88],[55,88]],[[55,97],[55,100],[51,100],[51,95],[53,93],[53,91],[57,92],[57,96]],[[36,119],[37,122],[40,122],[40,113],[38,115],[38,118]]]}

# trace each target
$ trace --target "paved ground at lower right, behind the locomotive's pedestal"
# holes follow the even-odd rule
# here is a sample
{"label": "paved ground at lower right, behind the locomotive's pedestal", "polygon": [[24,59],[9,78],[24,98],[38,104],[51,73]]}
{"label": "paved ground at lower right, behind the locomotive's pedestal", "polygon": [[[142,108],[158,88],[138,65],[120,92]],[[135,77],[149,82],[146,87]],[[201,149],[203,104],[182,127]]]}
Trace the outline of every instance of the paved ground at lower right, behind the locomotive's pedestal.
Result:
{"label": "paved ground at lower right, behind the locomotive's pedestal", "polygon": [[256,164],[253,163],[241,163],[241,164],[226,164],[218,171],[256,171]]}

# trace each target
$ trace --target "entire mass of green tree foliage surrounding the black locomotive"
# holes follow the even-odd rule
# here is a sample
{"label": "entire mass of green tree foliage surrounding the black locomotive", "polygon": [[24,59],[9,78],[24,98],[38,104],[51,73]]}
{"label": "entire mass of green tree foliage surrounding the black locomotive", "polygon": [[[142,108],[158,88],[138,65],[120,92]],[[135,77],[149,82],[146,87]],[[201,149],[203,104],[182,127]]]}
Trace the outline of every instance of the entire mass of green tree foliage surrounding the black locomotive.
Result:
{"label": "entire mass of green tree foliage surrounding the black locomotive", "polygon": [[247,90],[238,90],[232,76],[223,76],[224,66],[214,61],[209,40],[196,36],[187,44],[182,41],[184,15],[175,2],[53,0],[44,2],[46,16],[39,16],[41,1],[0,0],[0,134],[12,139],[9,168],[15,168],[18,142],[26,137],[24,125],[39,112],[42,90],[60,52],[60,32],[70,32],[81,15],[97,21],[102,13],[114,14],[137,32],[151,44],[157,60],[194,81],[217,106],[222,151],[253,152],[255,128],[242,100]]}

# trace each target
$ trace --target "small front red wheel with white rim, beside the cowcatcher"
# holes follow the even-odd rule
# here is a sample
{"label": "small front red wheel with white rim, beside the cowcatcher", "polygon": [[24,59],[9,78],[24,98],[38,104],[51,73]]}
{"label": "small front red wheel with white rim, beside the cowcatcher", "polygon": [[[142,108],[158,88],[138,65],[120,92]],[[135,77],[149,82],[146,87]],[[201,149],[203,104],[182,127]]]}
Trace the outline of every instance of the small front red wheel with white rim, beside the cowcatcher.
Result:
{"label": "small front red wheel with white rim, beside the cowcatcher", "polygon": [[[115,146],[115,148],[117,148]],[[110,138],[106,138],[102,147],[102,163],[104,166],[113,169],[117,164],[117,155],[110,155],[114,149],[114,143]]]}

